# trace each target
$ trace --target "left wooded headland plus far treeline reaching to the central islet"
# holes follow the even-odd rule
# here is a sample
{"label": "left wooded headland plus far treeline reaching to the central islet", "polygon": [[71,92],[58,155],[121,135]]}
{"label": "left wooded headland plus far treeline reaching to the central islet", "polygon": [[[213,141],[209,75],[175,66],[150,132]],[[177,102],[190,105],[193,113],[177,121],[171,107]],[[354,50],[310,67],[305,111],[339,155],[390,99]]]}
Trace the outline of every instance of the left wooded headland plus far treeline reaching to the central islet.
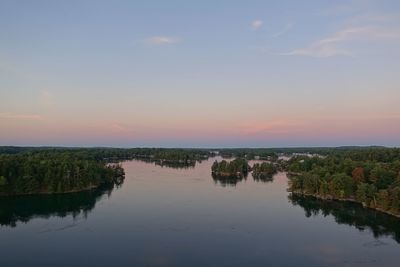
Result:
{"label": "left wooded headland plus far treeline reaching to the central islet", "polygon": [[199,149],[0,147],[0,196],[73,193],[119,185],[125,177],[120,161],[194,167],[209,155]]}

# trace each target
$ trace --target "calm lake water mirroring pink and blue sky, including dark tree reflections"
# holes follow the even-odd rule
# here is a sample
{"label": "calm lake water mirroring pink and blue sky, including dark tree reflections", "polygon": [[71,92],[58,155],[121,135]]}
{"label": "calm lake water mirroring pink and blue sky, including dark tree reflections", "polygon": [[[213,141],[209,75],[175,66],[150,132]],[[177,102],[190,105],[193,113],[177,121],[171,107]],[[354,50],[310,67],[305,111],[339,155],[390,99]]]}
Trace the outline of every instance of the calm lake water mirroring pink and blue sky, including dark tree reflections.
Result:
{"label": "calm lake water mirroring pink and blue sky, including dark tree reflections", "polygon": [[[123,163],[120,188],[0,199],[0,266],[400,266],[400,220],[287,178]],[[396,241],[397,240],[397,241]]]}

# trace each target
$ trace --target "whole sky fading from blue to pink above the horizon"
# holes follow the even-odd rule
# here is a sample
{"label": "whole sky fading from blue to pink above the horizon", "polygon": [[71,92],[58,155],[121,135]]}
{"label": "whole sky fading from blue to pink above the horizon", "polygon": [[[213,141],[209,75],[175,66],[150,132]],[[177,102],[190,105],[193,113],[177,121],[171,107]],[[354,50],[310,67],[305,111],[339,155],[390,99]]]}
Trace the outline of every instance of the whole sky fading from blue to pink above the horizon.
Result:
{"label": "whole sky fading from blue to pink above the horizon", "polygon": [[400,1],[0,0],[0,145],[400,146]]}

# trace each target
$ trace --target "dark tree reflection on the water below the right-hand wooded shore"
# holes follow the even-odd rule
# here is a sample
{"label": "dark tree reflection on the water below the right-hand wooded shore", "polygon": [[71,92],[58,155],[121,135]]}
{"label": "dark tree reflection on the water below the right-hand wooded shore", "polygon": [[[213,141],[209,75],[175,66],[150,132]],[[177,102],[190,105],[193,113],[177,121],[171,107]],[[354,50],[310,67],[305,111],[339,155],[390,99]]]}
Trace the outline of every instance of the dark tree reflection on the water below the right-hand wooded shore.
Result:
{"label": "dark tree reflection on the water below the right-hand wooded shore", "polygon": [[400,220],[394,216],[363,208],[356,203],[323,201],[294,194],[290,194],[288,198],[294,206],[304,209],[306,217],[332,215],[338,224],[354,226],[360,231],[369,230],[375,238],[391,236],[400,243]]}

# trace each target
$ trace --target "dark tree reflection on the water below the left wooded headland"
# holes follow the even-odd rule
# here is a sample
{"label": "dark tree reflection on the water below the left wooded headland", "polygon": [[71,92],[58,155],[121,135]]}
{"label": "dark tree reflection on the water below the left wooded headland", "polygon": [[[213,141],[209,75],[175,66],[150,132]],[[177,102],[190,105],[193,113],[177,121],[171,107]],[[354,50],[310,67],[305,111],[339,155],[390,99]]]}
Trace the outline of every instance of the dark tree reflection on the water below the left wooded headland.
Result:
{"label": "dark tree reflection on the water below the left wooded headland", "polygon": [[0,226],[16,227],[35,218],[52,216],[87,217],[104,195],[111,196],[114,186],[108,185],[78,193],[0,197]]}

